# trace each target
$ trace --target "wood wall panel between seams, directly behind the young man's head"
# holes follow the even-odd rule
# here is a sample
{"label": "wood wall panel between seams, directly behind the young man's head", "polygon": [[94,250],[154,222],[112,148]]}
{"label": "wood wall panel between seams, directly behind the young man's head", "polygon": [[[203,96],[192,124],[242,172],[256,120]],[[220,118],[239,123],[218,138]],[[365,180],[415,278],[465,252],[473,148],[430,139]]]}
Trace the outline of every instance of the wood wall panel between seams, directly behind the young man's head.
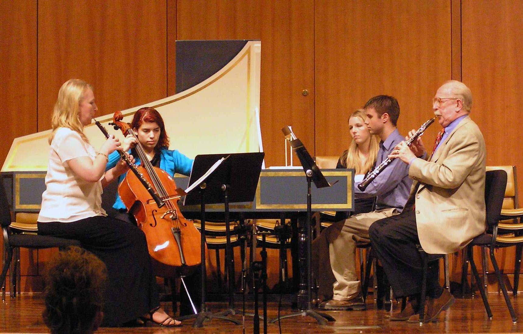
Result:
{"label": "wood wall panel between seams, directly behind the young man's head", "polygon": [[329,0],[314,22],[317,155],[348,147],[348,116],[376,95],[399,101],[405,135],[433,117],[431,99],[451,77],[449,0]]}

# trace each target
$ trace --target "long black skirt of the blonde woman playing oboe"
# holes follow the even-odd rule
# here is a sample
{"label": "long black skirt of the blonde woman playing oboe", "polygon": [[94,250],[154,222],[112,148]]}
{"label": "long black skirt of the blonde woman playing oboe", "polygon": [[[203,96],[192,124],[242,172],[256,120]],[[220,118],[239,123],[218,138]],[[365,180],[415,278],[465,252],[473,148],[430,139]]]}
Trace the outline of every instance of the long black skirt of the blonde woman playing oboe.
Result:
{"label": "long black skirt of the blonde woman playing oboe", "polygon": [[107,266],[102,326],[120,326],[160,305],[145,234],[106,216],[71,223],[38,223],[38,234],[77,239]]}

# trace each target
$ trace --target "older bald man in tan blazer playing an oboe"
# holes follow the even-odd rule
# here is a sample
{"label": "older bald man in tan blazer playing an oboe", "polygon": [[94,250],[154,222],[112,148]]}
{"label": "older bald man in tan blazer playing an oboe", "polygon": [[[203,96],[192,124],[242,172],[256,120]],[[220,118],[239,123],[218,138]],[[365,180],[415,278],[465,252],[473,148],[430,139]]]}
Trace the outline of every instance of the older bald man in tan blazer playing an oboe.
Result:
{"label": "older bald man in tan blazer playing an oboe", "polygon": [[[460,250],[485,231],[485,141],[469,117],[472,93],[463,83],[451,80],[433,99],[434,114],[444,127],[428,159],[420,139],[408,147],[397,145],[389,157],[402,162],[414,180],[405,210],[370,227],[372,248],[396,297],[410,302],[390,320],[419,323],[418,300],[423,263],[417,249],[428,254]],[[427,156],[423,154],[423,156]],[[454,297],[441,289],[437,263],[427,277],[424,321],[435,321]]]}

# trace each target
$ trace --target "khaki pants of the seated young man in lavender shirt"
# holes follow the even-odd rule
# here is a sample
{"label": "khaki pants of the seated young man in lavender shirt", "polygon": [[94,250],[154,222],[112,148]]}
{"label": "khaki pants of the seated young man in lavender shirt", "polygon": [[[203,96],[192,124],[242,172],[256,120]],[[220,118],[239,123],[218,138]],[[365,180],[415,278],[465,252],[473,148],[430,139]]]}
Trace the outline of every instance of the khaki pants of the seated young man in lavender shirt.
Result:
{"label": "khaki pants of the seated young man in lavender shirt", "polygon": [[336,279],[333,284],[334,300],[347,301],[361,293],[361,283],[356,275],[356,246],[370,242],[369,227],[372,223],[395,214],[396,209],[360,213],[324,231],[327,233],[329,260]]}

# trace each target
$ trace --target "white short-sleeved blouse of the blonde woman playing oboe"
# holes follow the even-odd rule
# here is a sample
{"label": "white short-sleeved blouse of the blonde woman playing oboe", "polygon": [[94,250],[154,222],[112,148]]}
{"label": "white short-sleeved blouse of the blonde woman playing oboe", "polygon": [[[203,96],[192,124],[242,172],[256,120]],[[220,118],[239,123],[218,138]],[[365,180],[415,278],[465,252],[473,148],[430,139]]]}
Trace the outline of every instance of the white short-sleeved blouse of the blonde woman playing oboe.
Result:
{"label": "white short-sleeved blouse of the blonde woman playing oboe", "polygon": [[54,134],[49,152],[46,191],[38,222],[75,222],[84,218],[107,215],[101,208],[101,179],[87,182],[74,174],[69,160],[88,156],[93,162],[96,151],[79,133],[69,128],[59,128]]}

